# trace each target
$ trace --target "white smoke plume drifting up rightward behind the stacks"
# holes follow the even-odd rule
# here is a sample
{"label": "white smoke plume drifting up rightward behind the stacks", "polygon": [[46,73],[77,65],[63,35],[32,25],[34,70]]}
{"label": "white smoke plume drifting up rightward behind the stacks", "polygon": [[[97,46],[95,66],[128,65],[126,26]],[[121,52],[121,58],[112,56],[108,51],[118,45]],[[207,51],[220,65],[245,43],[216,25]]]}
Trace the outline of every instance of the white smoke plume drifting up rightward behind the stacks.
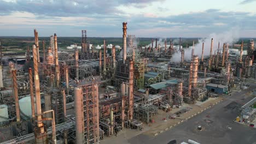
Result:
{"label": "white smoke plume drifting up rightward behind the stacks", "polygon": [[[199,39],[199,43],[194,46],[194,55],[199,56],[201,58],[202,54],[202,43],[204,42],[204,52],[203,56],[209,56],[211,51],[211,40],[213,38],[213,50],[212,55],[214,55],[214,51],[218,51],[218,43],[219,43],[219,50],[222,51],[223,44],[228,43],[231,46],[239,39],[239,29],[238,28],[231,28],[229,31],[223,33],[212,33],[209,37],[205,39]],[[189,61],[191,59],[191,51],[192,46],[188,49],[184,49],[184,60]],[[171,62],[181,62],[181,52],[178,51],[172,55]]]}

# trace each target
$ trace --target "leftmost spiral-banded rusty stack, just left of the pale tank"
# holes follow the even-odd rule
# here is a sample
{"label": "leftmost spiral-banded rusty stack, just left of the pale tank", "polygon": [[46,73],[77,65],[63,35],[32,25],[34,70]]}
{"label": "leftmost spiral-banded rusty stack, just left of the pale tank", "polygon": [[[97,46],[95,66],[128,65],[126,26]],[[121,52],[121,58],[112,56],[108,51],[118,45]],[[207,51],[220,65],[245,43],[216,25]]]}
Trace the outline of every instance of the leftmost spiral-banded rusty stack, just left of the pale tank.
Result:
{"label": "leftmost spiral-banded rusty stack, just left of the pale tank", "polygon": [[18,83],[17,83],[16,71],[17,71],[16,69],[12,70],[11,73],[13,74],[13,94],[14,94],[14,100],[15,100],[16,121],[20,122],[20,105],[19,105]]}

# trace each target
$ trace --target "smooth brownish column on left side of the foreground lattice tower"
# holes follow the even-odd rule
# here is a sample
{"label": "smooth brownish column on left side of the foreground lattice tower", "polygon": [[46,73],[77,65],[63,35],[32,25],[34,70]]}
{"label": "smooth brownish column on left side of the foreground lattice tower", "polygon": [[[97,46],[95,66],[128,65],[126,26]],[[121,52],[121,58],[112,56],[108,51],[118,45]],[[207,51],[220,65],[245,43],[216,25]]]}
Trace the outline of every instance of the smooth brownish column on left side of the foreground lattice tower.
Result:
{"label": "smooth brownish column on left side of the foreground lattice tower", "polygon": [[83,132],[83,97],[82,88],[74,88],[74,103],[75,103],[75,142],[84,143],[84,132]]}

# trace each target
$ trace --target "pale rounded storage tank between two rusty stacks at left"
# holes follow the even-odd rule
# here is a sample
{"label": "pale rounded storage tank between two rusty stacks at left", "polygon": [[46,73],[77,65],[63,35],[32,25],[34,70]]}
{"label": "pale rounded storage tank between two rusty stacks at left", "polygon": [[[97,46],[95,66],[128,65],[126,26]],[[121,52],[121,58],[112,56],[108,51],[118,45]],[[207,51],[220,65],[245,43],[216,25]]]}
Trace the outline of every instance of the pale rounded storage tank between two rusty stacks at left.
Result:
{"label": "pale rounded storage tank between two rusty stacks at left", "polygon": [[[20,111],[21,117],[27,119],[28,117],[32,117],[32,110],[31,110],[31,99],[30,97],[24,97],[19,100],[20,104]],[[36,108],[36,105],[35,105]]]}

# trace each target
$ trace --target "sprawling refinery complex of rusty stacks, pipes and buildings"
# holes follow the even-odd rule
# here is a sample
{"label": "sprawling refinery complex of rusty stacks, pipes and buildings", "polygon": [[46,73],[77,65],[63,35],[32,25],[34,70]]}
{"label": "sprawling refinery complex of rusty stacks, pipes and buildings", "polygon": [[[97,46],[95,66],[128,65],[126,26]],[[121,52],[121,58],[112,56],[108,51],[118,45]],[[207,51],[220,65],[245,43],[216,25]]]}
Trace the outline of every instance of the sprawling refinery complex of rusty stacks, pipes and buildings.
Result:
{"label": "sprawling refinery complex of rusty stacks, pipes and buildings", "polygon": [[[255,134],[253,39],[229,44],[210,38],[184,47],[182,38],[177,45],[153,38],[139,46],[138,38],[127,34],[129,24],[120,24],[120,46],[107,40],[90,44],[82,30],[80,44],[60,50],[57,34],[46,43],[36,29],[25,53],[5,55],[0,44],[0,143],[150,143],[132,137],[164,137],[181,127],[206,134],[215,122],[209,110],[218,105],[236,109],[229,123]],[[193,123],[199,115],[203,121]],[[231,131],[232,124],[221,127]]]}

